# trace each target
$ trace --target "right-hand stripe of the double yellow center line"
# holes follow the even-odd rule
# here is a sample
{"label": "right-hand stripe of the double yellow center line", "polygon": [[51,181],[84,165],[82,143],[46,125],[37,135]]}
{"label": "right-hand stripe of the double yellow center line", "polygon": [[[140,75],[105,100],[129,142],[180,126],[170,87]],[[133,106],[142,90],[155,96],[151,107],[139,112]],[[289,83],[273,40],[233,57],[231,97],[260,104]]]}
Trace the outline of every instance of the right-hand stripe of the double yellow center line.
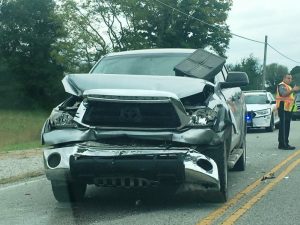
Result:
{"label": "right-hand stripe of the double yellow center line", "polygon": [[232,225],[234,224],[244,213],[246,213],[256,202],[258,202],[264,195],[266,195],[275,185],[277,185],[287,174],[289,174],[298,164],[300,159],[294,161],[289,165],[278,177],[276,177],[273,182],[269,183],[264,189],[262,189],[257,195],[251,198],[246,204],[235,211],[231,216],[229,216],[222,225]]}

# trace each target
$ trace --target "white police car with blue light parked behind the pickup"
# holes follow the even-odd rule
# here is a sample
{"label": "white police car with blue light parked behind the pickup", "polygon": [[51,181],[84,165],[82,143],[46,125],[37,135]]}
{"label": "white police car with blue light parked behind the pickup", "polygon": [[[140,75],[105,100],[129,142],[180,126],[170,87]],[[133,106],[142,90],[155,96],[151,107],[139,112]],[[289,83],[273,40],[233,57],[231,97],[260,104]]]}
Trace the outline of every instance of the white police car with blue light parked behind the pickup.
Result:
{"label": "white police car with blue light parked behind the pickup", "polygon": [[265,128],[273,132],[279,125],[275,98],[264,90],[244,91],[247,106],[247,128]]}

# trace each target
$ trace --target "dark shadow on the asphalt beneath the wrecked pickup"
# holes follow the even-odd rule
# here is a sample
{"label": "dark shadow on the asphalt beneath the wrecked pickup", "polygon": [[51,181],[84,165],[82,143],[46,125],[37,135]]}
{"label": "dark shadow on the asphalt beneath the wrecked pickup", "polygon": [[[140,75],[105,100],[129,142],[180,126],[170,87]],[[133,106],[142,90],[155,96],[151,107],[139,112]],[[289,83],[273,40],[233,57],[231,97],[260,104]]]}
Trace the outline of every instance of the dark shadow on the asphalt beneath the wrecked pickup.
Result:
{"label": "dark shadow on the asphalt beneath the wrecked pickup", "polygon": [[[113,188],[88,187],[86,197],[77,203],[58,203],[51,213],[52,222],[67,218],[75,224],[91,221],[111,221],[131,216],[142,216],[152,212],[178,210],[189,211],[214,209],[219,204],[211,204],[203,199],[203,194],[196,192],[175,194],[174,190],[145,189],[124,190]],[[51,222],[51,221],[50,221]],[[63,223],[62,223],[63,224]]]}

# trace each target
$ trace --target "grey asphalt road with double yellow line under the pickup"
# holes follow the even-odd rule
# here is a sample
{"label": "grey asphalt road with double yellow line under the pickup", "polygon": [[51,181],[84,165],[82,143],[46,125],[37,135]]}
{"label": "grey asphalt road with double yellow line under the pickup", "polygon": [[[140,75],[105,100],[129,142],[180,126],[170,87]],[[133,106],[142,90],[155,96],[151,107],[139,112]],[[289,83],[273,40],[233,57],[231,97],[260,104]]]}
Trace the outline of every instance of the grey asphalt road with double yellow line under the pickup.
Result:
{"label": "grey asphalt road with double yellow line under the pickup", "polygon": [[82,203],[62,204],[39,176],[0,186],[0,224],[295,225],[300,221],[300,121],[293,121],[295,151],[277,149],[277,133],[247,134],[247,169],[229,173],[229,201],[212,204],[197,193],[117,191],[88,187]]}

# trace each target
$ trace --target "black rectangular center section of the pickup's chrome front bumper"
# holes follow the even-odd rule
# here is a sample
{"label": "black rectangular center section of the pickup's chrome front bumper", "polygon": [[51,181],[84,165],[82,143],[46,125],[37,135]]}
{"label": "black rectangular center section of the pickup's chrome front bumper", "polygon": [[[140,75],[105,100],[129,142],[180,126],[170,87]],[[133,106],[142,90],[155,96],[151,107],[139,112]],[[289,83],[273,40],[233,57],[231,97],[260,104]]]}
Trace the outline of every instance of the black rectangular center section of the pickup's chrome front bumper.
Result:
{"label": "black rectangular center section of the pickup's chrome front bumper", "polygon": [[185,179],[184,155],[132,155],[70,157],[73,178],[111,187],[146,187],[181,183]]}

